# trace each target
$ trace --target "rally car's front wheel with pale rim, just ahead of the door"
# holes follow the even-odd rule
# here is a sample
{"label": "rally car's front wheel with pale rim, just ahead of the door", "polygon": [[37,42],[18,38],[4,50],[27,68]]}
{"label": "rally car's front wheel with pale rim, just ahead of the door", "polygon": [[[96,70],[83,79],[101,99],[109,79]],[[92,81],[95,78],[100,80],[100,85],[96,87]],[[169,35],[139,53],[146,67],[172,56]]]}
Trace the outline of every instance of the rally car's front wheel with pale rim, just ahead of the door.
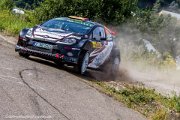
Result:
{"label": "rally car's front wheel with pale rim, just ahead of the door", "polygon": [[75,66],[76,72],[78,72],[81,75],[85,74],[89,64],[89,56],[90,54],[88,51],[81,52],[79,56],[78,64]]}

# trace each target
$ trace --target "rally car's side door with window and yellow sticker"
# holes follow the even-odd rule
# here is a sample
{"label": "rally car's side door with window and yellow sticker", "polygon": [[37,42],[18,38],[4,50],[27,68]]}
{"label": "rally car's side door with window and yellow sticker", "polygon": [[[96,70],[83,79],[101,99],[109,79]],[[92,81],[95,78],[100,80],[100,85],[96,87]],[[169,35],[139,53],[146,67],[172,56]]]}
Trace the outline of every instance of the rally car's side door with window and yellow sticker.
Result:
{"label": "rally car's side door with window and yellow sticker", "polygon": [[97,27],[93,30],[92,46],[93,51],[90,53],[90,63],[88,67],[97,69],[109,58],[113,48],[113,41],[108,38],[104,27]]}

